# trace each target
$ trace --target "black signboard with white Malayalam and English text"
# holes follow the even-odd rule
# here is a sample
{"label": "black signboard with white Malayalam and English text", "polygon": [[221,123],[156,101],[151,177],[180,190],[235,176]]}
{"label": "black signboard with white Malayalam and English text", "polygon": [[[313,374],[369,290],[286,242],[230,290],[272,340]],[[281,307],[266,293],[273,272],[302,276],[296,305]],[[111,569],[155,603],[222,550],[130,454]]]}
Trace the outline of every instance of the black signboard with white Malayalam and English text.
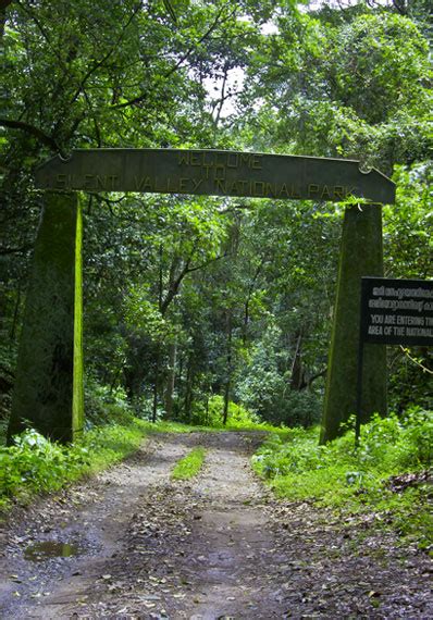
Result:
{"label": "black signboard with white Malayalam and English text", "polygon": [[361,340],[433,345],[433,280],[361,280]]}

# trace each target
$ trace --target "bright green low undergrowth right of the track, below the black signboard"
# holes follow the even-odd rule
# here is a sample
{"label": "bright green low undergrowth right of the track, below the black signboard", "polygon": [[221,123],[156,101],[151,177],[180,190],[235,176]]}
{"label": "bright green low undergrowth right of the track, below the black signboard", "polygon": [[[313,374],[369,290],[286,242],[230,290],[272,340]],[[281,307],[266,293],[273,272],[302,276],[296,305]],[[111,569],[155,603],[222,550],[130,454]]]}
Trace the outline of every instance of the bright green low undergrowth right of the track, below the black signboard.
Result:
{"label": "bright green low undergrowth right of the track, below the black signboard", "polygon": [[[375,416],[362,427],[356,449],[354,430],[324,446],[319,429],[293,429],[285,439],[271,435],[252,457],[253,469],[281,496],[313,499],[342,512],[373,512],[376,521],[431,548],[432,411],[413,408],[405,418]],[[424,472],[424,475],[409,473]]]}

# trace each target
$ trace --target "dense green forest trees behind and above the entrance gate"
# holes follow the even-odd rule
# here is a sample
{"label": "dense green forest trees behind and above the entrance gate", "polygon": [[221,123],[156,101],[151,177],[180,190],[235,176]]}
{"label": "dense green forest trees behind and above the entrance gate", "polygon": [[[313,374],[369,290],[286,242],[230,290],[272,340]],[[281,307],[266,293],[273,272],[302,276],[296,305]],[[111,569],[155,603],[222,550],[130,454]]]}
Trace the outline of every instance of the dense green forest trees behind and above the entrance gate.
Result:
{"label": "dense green forest trees behind and above the entrance gate", "polygon": [[[1,3],[0,390],[7,424],[41,194],[73,148],[359,159],[397,185],[385,275],[431,278],[429,2]],[[430,127],[431,128],[431,127]],[[344,204],[86,194],[87,424],[320,421]],[[393,411],[431,350],[388,351]],[[429,400],[430,399],[430,400]],[[232,405],[231,405],[232,404]]]}

